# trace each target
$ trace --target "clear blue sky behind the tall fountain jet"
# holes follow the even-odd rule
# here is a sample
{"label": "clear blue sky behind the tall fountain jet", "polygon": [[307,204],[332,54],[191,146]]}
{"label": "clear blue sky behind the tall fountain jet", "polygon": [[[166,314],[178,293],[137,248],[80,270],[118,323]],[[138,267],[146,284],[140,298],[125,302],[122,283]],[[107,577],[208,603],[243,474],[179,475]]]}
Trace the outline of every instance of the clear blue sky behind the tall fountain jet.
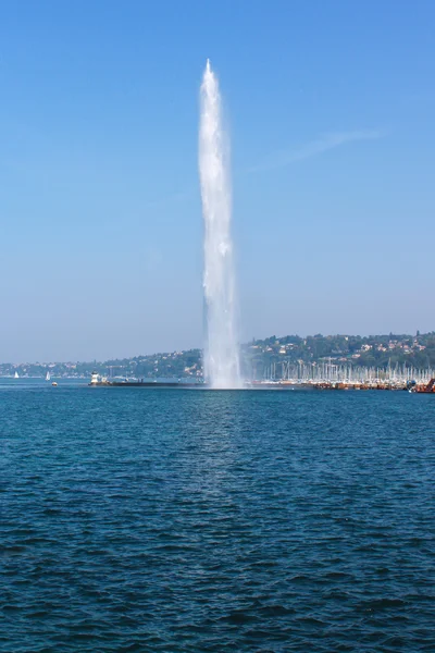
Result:
{"label": "clear blue sky behind the tall fountain jet", "polygon": [[198,89],[241,338],[435,329],[432,0],[3,0],[0,360],[201,346]]}

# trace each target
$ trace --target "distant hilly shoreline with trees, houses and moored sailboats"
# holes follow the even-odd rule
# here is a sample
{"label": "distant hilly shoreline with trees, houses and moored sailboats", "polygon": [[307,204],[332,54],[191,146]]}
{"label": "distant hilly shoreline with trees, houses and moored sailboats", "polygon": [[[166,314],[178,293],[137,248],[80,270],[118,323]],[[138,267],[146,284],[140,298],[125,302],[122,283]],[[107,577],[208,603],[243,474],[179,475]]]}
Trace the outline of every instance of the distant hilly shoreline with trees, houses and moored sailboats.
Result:
{"label": "distant hilly shoreline with trees, houses and moored sailboats", "polygon": [[[435,372],[435,332],[385,335],[285,335],[252,338],[240,345],[241,377],[247,380],[420,378]],[[202,381],[202,350],[139,355],[105,361],[0,364],[0,378]]]}

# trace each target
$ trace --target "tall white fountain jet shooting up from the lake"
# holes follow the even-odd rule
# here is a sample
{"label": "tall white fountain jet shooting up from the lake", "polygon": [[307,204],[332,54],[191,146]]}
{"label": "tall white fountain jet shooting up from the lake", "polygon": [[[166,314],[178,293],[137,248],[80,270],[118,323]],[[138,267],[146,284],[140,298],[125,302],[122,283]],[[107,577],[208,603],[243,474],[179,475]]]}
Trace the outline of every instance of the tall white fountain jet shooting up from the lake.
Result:
{"label": "tall white fountain jet shooting up from the lake", "polygon": [[219,83],[209,60],[200,97],[199,176],[204,220],[203,287],[207,310],[204,375],[212,387],[239,387],[229,147],[222,125]]}

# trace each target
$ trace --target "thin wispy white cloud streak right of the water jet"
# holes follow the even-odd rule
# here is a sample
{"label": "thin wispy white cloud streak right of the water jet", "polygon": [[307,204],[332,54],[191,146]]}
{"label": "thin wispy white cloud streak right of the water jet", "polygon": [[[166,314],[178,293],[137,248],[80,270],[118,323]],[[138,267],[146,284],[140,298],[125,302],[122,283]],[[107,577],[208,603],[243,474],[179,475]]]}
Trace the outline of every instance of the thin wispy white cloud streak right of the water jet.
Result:
{"label": "thin wispy white cloud streak right of the water jet", "polygon": [[261,163],[249,169],[249,172],[263,172],[266,170],[275,170],[276,168],[285,168],[296,161],[303,161],[323,155],[331,149],[340,147],[347,143],[357,140],[375,140],[384,136],[384,132],[378,130],[360,130],[358,132],[333,132],[324,134],[316,140],[302,145],[299,149],[275,152],[266,157]]}

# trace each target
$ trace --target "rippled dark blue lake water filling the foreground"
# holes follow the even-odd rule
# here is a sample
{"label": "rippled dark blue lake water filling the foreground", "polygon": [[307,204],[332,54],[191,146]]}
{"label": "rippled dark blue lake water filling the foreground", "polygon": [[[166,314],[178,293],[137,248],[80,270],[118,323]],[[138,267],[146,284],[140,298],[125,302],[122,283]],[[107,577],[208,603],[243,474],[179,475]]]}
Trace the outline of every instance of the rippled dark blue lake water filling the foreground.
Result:
{"label": "rippled dark blue lake water filling the foreground", "polygon": [[435,397],[0,387],[0,651],[434,651]]}

